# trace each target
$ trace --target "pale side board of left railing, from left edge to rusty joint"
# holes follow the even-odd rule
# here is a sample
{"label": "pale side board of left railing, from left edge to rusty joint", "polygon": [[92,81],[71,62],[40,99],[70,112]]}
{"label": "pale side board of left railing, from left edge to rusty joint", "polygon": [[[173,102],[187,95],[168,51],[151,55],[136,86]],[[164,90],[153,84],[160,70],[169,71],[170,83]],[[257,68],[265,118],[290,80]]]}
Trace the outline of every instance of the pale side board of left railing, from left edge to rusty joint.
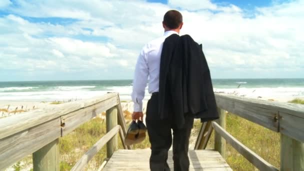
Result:
{"label": "pale side board of left railing, from left edge to rusty joint", "polygon": [[58,117],[0,139],[0,170],[32,154],[60,135],[61,126]]}

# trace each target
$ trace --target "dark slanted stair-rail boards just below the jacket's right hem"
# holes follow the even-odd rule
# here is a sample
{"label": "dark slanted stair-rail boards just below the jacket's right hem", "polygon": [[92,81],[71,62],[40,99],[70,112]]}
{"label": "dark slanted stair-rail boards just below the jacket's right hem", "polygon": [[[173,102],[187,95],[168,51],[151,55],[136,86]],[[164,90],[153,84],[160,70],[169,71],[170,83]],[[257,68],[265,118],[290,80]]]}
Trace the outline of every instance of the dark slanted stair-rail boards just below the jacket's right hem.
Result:
{"label": "dark slanted stair-rail boards just below the jacket's right hem", "polygon": [[199,133],[196,138],[194,149],[205,149],[206,148],[207,142],[210,138],[212,130],[213,129],[212,129],[211,121],[205,121],[201,124]]}

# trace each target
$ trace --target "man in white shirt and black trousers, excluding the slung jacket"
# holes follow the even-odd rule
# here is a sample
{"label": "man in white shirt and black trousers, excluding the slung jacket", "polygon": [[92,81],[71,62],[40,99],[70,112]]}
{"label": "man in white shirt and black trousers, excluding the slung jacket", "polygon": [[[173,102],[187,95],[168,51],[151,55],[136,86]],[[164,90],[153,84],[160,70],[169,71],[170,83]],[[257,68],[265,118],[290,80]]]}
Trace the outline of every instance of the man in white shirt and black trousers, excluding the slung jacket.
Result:
{"label": "man in white shirt and black trousers, excluding the slung jacket", "polygon": [[188,170],[189,159],[187,155],[190,131],[193,125],[193,115],[185,117],[182,128],[176,128],[170,119],[160,119],[158,113],[159,65],[162,45],[166,37],[179,34],[182,27],[182,15],[177,10],[169,10],[163,16],[162,26],[164,35],[150,41],[142,48],[133,79],[132,100],[134,112],[132,119],[143,117],[142,99],[149,77],[148,91],[151,98],[147,103],[146,126],[151,143],[150,169],[170,170],[166,162],[168,149],[172,144],[171,128],[173,129],[173,161],[174,170]]}

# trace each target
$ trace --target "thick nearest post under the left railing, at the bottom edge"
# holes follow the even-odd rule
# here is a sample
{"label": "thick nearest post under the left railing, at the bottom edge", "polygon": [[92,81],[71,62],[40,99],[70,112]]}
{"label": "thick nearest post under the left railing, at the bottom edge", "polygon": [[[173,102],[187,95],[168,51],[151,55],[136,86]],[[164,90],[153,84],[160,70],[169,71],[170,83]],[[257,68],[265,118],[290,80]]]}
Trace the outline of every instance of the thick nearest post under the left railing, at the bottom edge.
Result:
{"label": "thick nearest post under the left railing, at the bottom edge", "polygon": [[59,171],[59,138],[32,153],[33,170]]}

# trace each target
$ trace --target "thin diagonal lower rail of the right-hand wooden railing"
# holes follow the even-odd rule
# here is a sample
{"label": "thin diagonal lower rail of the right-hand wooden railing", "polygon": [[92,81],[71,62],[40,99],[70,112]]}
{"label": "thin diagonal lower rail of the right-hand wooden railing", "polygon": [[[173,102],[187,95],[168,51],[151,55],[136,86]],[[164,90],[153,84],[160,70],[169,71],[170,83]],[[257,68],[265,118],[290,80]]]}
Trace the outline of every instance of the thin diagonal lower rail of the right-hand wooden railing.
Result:
{"label": "thin diagonal lower rail of the right-hand wooden railing", "polygon": [[235,139],[226,130],[220,127],[216,122],[212,121],[212,126],[215,131],[218,132],[225,140],[231,144],[231,146],[236,149],[240,154],[242,154],[249,162],[251,162],[256,168],[260,170],[278,170],[270,163],[265,161],[263,158],[258,156],[255,152],[250,150],[244,144]]}

